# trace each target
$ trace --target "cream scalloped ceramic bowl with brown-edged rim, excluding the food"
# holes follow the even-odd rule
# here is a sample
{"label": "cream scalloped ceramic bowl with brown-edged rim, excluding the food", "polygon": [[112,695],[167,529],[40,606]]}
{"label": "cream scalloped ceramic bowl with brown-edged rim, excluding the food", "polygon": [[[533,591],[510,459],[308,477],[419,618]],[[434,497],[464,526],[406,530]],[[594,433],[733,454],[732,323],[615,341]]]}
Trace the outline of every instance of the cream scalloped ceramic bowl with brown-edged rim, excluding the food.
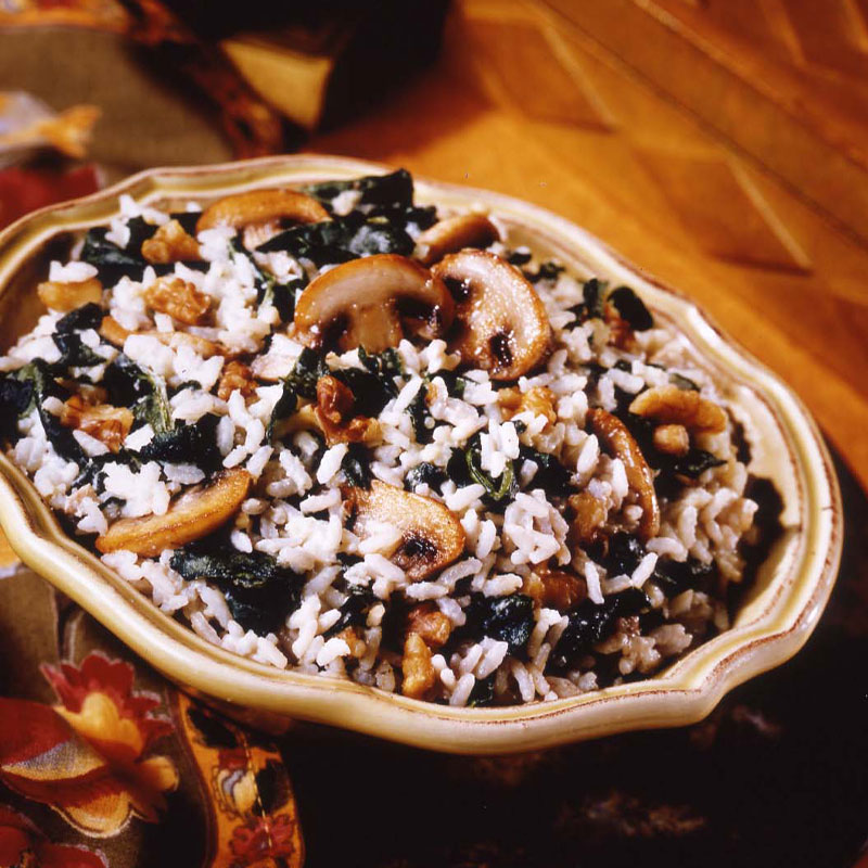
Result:
{"label": "cream scalloped ceramic bowl with brown-edged rim, excluding the food", "polygon": [[[155,169],[95,195],[36,212],[0,234],[0,340],[8,347],[40,312],[35,286],[75,233],[118,213],[118,195],[159,203],[205,201],[251,187],[348,178],[383,167],[324,156],[288,156]],[[29,481],[0,456],[0,524],[22,560],[72,597],[137,654],[175,681],[257,713],[331,724],[456,753],[531,750],[630,729],[693,723],[736,685],[792,656],[814,629],[835,578],[842,512],[829,454],[783,383],[722,334],[695,305],[661,286],[584,230],[493,193],[419,181],[418,199],[446,206],[481,202],[512,233],[578,275],[627,283],[655,316],[676,324],[691,353],[730,395],[752,445],[751,471],[783,500],[782,533],[730,629],[642,681],[554,702],[452,709],[349,681],[283,672],[216,648],[103,566],[67,537]]]}

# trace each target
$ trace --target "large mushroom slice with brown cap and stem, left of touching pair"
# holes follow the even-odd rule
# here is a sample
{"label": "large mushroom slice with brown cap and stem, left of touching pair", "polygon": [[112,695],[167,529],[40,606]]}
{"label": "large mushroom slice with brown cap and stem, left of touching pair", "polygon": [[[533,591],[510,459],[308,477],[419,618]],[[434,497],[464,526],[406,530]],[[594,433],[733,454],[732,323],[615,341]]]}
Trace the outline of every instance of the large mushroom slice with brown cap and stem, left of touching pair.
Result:
{"label": "large mushroom slice with brown cap and stem, left of touching pair", "polygon": [[382,253],[312,280],[295,305],[295,326],[308,343],[382,353],[397,346],[413,321],[426,337],[443,334],[452,312],[452,298],[439,278],[406,256]]}

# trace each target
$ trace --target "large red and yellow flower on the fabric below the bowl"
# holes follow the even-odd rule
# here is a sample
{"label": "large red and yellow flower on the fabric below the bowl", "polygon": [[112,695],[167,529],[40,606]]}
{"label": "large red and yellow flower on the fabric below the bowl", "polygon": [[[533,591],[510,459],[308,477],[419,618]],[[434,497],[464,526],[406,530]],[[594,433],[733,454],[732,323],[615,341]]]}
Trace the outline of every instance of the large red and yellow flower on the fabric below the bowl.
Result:
{"label": "large red and yellow flower on the fabric below the bowl", "polygon": [[133,815],[156,822],[178,784],[171,760],[144,756],[171,731],[152,714],[159,700],[133,690],[132,666],[98,653],[42,672],[61,704],[0,699],[0,779],[86,834],[115,834]]}

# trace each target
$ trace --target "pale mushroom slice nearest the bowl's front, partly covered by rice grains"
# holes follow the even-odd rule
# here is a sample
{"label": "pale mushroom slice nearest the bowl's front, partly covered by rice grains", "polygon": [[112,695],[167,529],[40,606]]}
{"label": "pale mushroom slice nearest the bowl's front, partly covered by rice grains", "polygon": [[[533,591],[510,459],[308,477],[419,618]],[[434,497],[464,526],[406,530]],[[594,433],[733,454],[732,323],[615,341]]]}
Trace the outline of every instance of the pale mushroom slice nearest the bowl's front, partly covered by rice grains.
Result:
{"label": "pale mushroom slice nearest the bowl's front, partly covered by rice grains", "polygon": [[392,561],[411,582],[419,582],[450,564],[464,550],[464,529],[443,503],[374,480],[369,490],[347,488],[355,512],[353,532],[361,538],[372,523],[391,524],[401,533]]}

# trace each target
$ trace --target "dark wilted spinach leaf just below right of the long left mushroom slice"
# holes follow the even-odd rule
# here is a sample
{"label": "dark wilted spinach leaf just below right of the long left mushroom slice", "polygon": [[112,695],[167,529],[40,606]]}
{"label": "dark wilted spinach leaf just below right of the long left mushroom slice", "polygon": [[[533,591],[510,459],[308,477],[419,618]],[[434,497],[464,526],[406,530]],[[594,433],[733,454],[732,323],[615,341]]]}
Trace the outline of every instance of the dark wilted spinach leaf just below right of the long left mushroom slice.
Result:
{"label": "dark wilted spinach leaf just below right of the long left mushroom slice", "polygon": [[302,578],[261,551],[206,551],[201,545],[178,549],[169,565],[186,579],[205,578],[226,596],[232,617],[244,629],[280,629],[298,604]]}

